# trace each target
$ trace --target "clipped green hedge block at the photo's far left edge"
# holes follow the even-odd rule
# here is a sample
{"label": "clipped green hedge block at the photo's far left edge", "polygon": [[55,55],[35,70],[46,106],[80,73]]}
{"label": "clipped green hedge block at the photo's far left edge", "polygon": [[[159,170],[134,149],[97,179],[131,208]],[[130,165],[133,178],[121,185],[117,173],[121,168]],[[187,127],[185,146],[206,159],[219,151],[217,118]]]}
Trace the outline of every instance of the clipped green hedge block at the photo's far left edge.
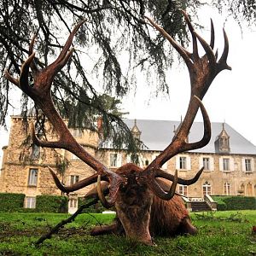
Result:
{"label": "clipped green hedge block at the photo's far left edge", "polygon": [[18,212],[23,208],[25,195],[0,193],[0,212]]}

